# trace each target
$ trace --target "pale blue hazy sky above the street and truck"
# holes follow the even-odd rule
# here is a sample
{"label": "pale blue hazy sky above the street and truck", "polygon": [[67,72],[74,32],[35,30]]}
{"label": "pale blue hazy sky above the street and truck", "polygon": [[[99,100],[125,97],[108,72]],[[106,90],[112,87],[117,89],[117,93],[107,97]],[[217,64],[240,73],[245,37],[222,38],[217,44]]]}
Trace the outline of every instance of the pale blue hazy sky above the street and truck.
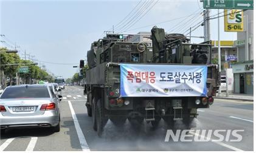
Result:
{"label": "pale blue hazy sky above the street and truck", "polygon": [[[1,37],[1,41],[7,43],[1,45],[10,47],[8,45],[14,46],[16,42],[20,46],[20,54],[26,50],[30,53],[30,58],[35,56],[37,60],[44,61],[41,64],[56,76],[69,78],[78,71],[72,66],[78,65],[80,59],[85,59],[91,42],[102,38],[104,30],[112,29],[112,25],[122,21],[139,2],[1,1],[0,34],[5,35],[5,38]],[[145,1],[141,1],[137,7],[143,2]],[[148,2],[148,8],[155,2]],[[117,30],[125,31],[124,33],[150,32],[153,25],[157,25],[165,31],[181,33],[203,19],[199,15],[201,9],[202,3],[199,0],[160,0],[133,26],[128,28],[123,27],[125,24],[120,24]],[[210,15],[216,13],[217,10],[211,10]],[[189,15],[192,16],[184,17]],[[195,18],[189,21],[193,16]],[[217,19],[210,20],[212,40],[218,39],[217,27]],[[237,39],[237,33],[224,32],[223,18],[220,18],[220,28],[222,40]],[[202,27],[192,33],[192,36],[203,35]],[[203,39],[192,39],[192,42],[202,41]],[[21,57],[24,58],[24,55]]]}

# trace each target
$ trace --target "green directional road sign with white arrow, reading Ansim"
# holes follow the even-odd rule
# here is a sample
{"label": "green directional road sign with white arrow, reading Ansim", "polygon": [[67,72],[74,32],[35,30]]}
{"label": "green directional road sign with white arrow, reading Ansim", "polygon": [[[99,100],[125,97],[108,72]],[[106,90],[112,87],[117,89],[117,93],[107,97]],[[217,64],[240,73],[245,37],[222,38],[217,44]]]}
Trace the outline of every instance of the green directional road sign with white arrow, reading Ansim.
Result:
{"label": "green directional road sign with white arrow, reading Ansim", "polygon": [[254,0],[204,0],[204,9],[253,10]]}

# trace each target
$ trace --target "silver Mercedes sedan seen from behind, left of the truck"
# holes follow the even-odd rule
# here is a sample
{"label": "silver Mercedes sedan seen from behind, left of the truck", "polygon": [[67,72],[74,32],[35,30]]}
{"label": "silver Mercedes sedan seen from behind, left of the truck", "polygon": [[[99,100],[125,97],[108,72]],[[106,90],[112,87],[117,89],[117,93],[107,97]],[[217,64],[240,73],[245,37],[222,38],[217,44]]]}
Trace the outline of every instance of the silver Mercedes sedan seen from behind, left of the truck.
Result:
{"label": "silver Mercedes sedan seen from behind, left of the truck", "polygon": [[20,126],[51,127],[59,132],[61,98],[46,84],[7,87],[0,97],[1,132]]}

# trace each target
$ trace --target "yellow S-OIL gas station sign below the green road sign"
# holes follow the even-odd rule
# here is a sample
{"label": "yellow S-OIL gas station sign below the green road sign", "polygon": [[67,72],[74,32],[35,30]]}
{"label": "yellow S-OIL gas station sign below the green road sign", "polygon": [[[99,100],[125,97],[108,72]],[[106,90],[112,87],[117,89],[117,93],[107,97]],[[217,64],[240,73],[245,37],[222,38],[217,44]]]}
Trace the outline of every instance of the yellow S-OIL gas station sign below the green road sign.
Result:
{"label": "yellow S-OIL gas station sign below the green road sign", "polygon": [[224,10],[224,31],[243,32],[243,20],[242,10]]}

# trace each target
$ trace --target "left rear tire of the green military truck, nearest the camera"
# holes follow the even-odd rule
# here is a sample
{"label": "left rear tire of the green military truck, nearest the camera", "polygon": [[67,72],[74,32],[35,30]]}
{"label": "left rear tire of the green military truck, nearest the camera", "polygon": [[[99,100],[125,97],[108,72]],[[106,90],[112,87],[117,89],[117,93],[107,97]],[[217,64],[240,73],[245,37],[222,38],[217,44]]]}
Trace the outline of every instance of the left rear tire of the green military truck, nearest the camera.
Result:
{"label": "left rear tire of the green military truck, nearest the camera", "polygon": [[99,99],[97,101],[97,107],[96,107],[96,122],[97,122],[97,134],[99,137],[102,136],[103,128],[107,122],[107,118],[103,115],[103,106],[102,101]]}

